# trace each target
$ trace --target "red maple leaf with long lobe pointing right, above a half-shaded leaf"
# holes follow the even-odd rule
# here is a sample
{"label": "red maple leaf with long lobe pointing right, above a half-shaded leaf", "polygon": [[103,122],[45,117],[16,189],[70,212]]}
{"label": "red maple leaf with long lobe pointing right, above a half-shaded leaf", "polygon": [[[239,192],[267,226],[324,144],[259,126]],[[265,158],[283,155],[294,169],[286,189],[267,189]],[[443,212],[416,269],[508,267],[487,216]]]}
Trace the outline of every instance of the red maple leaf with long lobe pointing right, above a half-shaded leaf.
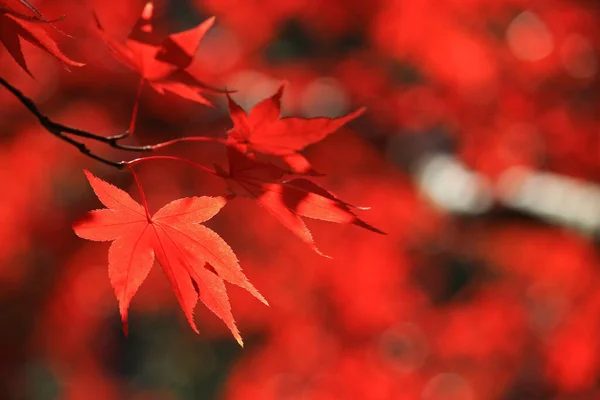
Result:
{"label": "red maple leaf with long lobe pointing right, above a half-shaded leaf", "polygon": [[293,172],[308,173],[312,171],[310,163],[299,151],[358,118],[366,109],[362,107],[339,118],[280,118],[284,86],[281,85],[273,96],[258,103],[248,114],[229,98],[233,128],[228,135],[247,145],[250,151],[279,157]]}

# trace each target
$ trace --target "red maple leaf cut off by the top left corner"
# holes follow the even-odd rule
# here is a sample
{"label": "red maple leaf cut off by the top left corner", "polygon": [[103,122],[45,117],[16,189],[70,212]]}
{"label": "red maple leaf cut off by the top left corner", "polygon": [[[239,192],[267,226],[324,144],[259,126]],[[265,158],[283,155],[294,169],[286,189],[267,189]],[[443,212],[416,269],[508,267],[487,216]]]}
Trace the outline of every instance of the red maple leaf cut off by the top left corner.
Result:
{"label": "red maple leaf cut off by the top left corner", "polygon": [[21,48],[22,40],[39,47],[48,54],[61,61],[65,69],[69,66],[80,67],[84,64],[73,61],[65,56],[56,42],[48,36],[47,26],[52,26],[52,22],[43,17],[43,15],[30,3],[24,0],[0,0],[0,42],[12,58],[31,75],[23,50]]}

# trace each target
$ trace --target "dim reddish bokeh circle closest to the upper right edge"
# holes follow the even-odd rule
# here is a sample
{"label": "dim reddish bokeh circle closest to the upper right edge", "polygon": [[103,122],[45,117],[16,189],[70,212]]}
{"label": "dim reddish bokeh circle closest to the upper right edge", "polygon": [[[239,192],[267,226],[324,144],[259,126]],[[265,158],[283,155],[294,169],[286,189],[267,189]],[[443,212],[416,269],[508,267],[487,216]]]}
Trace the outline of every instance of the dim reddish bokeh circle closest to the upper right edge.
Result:
{"label": "dim reddish bokeh circle closest to the upper right edge", "polygon": [[572,34],[560,48],[560,57],[567,73],[573,78],[587,79],[598,72],[598,57],[594,46],[585,37]]}

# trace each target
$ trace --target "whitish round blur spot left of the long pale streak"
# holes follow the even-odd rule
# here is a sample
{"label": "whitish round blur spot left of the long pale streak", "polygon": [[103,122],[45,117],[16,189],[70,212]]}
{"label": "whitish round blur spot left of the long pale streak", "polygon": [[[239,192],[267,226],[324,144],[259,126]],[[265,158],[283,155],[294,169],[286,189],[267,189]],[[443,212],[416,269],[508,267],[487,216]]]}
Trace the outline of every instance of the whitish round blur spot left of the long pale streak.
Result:
{"label": "whitish round blur spot left of the long pale streak", "polygon": [[492,205],[488,181],[453,156],[437,154],[424,160],[417,169],[417,181],[421,190],[446,211],[481,214]]}

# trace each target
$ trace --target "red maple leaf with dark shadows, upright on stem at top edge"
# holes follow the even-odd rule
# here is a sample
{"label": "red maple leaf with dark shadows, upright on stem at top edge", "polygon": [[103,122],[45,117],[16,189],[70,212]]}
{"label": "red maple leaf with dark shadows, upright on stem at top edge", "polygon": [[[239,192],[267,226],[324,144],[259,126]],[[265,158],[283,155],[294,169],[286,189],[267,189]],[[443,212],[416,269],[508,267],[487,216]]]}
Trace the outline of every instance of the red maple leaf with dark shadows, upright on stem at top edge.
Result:
{"label": "red maple leaf with dark shadows, upright on stem at top edge", "polygon": [[137,72],[157,92],[172,92],[198,103],[211,105],[201,93],[226,93],[199,81],[186,71],[194,60],[200,41],[214,23],[211,17],[197,27],[160,38],[152,26],[154,5],[146,3],[142,15],[125,43],[107,34],[96,17],[98,33],[113,56]]}

